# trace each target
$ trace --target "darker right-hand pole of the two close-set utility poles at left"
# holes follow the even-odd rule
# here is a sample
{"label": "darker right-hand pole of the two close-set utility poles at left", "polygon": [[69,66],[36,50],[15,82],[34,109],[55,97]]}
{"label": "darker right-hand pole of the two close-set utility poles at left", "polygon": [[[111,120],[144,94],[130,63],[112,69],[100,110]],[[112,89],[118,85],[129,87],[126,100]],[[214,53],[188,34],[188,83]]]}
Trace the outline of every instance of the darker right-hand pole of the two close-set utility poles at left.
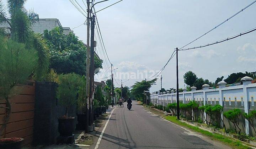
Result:
{"label": "darker right-hand pole of the two close-set utility poles at left", "polygon": [[[90,102],[91,102],[91,123],[94,122],[94,110],[93,110],[93,103],[94,103],[94,47],[96,46],[96,42],[94,41],[94,26],[95,26],[95,15],[92,15],[92,22],[91,22],[91,64],[90,64]],[[89,120],[89,122],[90,122]],[[90,125],[90,124],[89,124]]]}

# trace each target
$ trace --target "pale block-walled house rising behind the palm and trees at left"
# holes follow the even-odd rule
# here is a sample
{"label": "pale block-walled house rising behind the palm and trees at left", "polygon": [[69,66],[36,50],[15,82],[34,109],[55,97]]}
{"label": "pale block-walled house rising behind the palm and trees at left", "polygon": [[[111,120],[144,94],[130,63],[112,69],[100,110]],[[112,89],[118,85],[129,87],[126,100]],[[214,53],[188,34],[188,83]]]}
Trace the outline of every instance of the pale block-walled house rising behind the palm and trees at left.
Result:
{"label": "pale block-walled house rising behind the palm and trees at left", "polygon": [[[0,27],[10,27],[10,25],[8,23],[2,23],[0,24]],[[48,29],[48,30],[52,30],[55,27],[62,27],[62,25],[60,24],[59,20],[57,18],[41,18],[39,19],[39,22],[36,22],[34,24],[32,24],[32,29],[34,32],[36,33],[40,33],[42,34],[44,30]],[[73,33],[73,31],[71,31],[71,29],[69,27],[62,27],[63,28],[63,33],[64,34],[69,34],[69,33]],[[7,30],[7,33],[10,33],[10,30]]]}

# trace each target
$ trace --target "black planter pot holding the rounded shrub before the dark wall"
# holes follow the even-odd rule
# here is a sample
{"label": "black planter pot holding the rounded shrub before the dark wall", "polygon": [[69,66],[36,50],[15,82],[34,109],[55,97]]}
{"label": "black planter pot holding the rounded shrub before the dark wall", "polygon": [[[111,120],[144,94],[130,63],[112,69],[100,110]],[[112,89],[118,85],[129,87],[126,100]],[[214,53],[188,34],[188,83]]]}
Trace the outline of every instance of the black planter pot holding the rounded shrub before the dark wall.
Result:
{"label": "black planter pot holding the rounded shrub before the dark wall", "polygon": [[62,136],[62,137],[72,136],[72,134],[74,132],[75,117],[68,118],[68,119],[58,118],[58,120],[59,120],[60,136]]}

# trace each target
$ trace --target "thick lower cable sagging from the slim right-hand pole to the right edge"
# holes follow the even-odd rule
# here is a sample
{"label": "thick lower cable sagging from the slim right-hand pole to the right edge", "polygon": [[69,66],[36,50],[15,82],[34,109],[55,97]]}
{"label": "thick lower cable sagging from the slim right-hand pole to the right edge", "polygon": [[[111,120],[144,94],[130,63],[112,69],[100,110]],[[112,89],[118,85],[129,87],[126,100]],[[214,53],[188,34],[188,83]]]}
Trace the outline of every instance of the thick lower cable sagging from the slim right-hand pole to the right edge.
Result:
{"label": "thick lower cable sagging from the slim right-hand pole to the right edge", "polygon": [[178,50],[178,51],[185,51],[185,50],[203,48],[203,47],[206,47],[206,46],[209,46],[209,45],[214,45],[214,44],[222,43],[222,42],[225,42],[225,41],[228,41],[228,40],[231,40],[231,39],[240,37],[241,35],[245,35],[245,34],[254,32],[255,30],[256,30],[256,27],[255,27],[255,28],[252,28],[252,29],[249,29],[248,31],[245,31],[245,32],[236,34],[236,35],[234,35],[234,36],[231,36],[231,37],[228,37],[228,38],[225,38],[225,39],[222,39],[222,40],[218,40],[217,42],[212,42],[212,43],[208,43],[208,44],[204,44],[204,45],[200,45],[200,46],[195,46],[195,47],[192,47],[192,48],[180,49],[180,50]]}

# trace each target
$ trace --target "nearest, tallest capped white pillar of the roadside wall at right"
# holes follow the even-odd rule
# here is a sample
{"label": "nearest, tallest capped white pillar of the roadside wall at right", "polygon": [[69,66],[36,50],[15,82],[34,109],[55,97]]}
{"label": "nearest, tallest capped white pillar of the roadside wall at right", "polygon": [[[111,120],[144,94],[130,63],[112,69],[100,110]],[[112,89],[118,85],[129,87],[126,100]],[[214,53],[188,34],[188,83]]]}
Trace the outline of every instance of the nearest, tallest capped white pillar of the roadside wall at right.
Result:
{"label": "nearest, tallest capped white pillar of the roadside wall at right", "polygon": [[[247,77],[247,76],[245,76],[245,77],[243,77],[243,78],[241,78],[241,81],[242,81],[242,83],[243,83],[243,91],[244,91],[244,110],[245,110],[245,113],[249,113],[249,97],[247,96],[247,88],[246,88],[246,86],[248,85],[248,84],[251,84],[251,81],[252,81],[252,78],[251,77]],[[248,120],[246,120],[245,119],[245,133],[246,134],[249,134],[250,133],[250,131],[249,131],[249,121]]]}

